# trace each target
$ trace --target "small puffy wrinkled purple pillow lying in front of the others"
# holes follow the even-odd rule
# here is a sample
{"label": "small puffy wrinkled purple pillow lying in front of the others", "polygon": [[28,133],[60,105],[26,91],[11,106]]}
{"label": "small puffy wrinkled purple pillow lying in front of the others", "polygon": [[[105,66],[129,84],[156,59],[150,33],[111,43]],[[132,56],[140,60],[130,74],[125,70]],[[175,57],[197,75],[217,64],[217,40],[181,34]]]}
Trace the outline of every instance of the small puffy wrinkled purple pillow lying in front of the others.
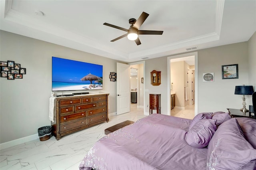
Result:
{"label": "small puffy wrinkled purple pillow lying in front of the others", "polygon": [[185,140],[194,148],[204,148],[210,142],[215,130],[216,120],[201,119],[185,134]]}

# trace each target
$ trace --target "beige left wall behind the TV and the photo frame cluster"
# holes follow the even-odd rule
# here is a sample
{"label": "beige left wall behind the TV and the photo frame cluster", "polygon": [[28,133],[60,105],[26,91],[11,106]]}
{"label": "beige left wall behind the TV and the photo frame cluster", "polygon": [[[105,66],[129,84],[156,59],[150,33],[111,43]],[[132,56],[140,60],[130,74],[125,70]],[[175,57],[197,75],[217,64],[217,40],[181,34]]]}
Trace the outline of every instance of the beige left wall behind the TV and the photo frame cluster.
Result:
{"label": "beige left wall behind the TV and the photo frame cluster", "polygon": [[[0,143],[37,134],[37,129],[50,125],[52,56],[103,65],[103,90],[110,93],[109,113],[116,112],[116,60],[78,51],[60,45],[0,31],[0,61],[15,61],[26,68],[23,79],[0,77]],[[68,91],[74,93],[78,91]],[[89,91],[98,93],[99,90]]]}

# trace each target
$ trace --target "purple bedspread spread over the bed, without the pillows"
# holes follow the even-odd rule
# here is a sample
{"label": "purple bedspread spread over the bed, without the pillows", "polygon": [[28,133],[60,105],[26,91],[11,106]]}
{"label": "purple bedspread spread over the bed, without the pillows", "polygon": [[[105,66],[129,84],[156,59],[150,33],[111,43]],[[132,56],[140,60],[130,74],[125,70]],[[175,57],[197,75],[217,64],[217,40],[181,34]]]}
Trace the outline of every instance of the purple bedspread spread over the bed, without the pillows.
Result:
{"label": "purple bedspread spread over the bed, without the pillows", "polygon": [[202,170],[207,148],[184,139],[189,119],[153,114],[116,130],[94,144],[80,170]]}

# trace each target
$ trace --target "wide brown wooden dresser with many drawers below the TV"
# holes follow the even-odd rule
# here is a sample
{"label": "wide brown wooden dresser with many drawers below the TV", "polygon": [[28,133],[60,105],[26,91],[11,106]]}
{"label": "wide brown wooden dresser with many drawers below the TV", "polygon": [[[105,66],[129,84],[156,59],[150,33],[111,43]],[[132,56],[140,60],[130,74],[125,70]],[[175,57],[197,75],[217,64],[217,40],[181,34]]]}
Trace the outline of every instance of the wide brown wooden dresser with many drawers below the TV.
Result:
{"label": "wide brown wooden dresser with many drawers below the TV", "polygon": [[61,136],[82,130],[104,121],[108,122],[108,95],[105,93],[56,97],[56,113],[52,134]]}

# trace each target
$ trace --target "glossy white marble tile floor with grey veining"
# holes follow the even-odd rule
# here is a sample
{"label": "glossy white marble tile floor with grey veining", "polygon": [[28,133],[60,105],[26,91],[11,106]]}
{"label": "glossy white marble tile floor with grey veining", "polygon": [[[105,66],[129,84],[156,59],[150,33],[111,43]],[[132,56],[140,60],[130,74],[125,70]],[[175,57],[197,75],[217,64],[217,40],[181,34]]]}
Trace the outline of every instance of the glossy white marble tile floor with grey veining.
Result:
{"label": "glossy white marble tile floor with grey veining", "polygon": [[[176,117],[186,115],[184,110],[174,108],[173,112]],[[46,141],[38,138],[0,150],[0,170],[78,170],[88,150],[105,136],[104,129],[126,120],[137,121],[143,117],[146,117],[143,109],[137,109],[136,104],[132,104],[129,113],[109,116],[108,123],[63,136],[60,140],[56,140],[54,136]]]}

